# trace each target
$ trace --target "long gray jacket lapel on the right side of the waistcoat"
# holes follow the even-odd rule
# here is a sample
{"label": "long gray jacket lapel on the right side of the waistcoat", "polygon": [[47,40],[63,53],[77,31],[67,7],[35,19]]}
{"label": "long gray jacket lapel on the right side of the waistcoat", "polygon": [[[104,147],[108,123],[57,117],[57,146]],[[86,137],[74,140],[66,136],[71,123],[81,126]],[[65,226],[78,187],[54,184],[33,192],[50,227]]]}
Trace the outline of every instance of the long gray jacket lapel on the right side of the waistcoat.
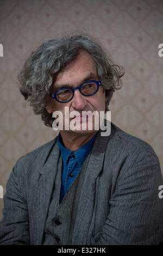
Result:
{"label": "long gray jacket lapel on the right side of the waistcoat", "polygon": [[89,159],[87,159],[88,164],[85,164],[85,170],[82,171],[84,173],[84,182],[81,184],[82,189],[78,202],[77,219],[74,225],[73,244],[87,244],[87,237],[89,236],[88,230],[91,221],[93,221],[93,208],[96,205],[97,177],[103,170],[106,145],[114,134],[114,130],[111,131],[109,137],[102,137],[100,133],[101,132],[98,133]]}

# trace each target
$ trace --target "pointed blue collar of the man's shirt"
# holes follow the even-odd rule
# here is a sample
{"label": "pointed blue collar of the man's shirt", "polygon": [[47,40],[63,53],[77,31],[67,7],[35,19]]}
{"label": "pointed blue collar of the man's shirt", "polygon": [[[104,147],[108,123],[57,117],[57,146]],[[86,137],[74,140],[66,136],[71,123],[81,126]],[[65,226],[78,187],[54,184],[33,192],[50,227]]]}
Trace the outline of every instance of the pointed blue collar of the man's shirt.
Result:
{"label": "pointed blue collar of the man's shirt", "polygon": [[[89,153],[90,153],[90,151],[93,147],[93,144],[96,140],[97,134],[98,134],[98,131],[90,139],[90,141],[85,143],[81,148],[79,148],[77,151],[74,152],[76,160],[78,161],[78,163],[81,167],[82,167],[86,157],[89,155]],[[62,156],[62,160],[63,160],[64,167],[65,167],[66,164],[67,164],[68,157],[70,156],[71,153],[73,153],[73,151],[65,148],[65,145],[62,141],[62,137],[61,137],[60,133],[58,135],[57,142],[58,142],[58,145],[59,145],[59,148],[60,148],[60,151],[61,151],[61,156]]]}

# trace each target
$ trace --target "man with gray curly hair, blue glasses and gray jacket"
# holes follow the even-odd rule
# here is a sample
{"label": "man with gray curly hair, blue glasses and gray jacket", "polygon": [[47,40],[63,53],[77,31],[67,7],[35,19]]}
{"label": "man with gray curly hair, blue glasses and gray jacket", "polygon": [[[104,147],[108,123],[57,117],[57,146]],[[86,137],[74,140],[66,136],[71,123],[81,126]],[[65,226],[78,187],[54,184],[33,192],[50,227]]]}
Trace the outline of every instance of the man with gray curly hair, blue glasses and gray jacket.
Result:
{"label": "man with gray curly hair, blue glasses and gray jacket", "polygon": [[[98,42],[80,34],[45,42],[26,60],[18,76],[21,93],[45,125],[53,127],[61,113],[64,128],[13,168],[1,244],[159,244],[158,157],[149,144],[112,123],[110,135],[101,136],[92,117],[90,130],[84,114],[108,111],[122,75]],[[76,121],[74,129],[65,129],[67,119]]]}

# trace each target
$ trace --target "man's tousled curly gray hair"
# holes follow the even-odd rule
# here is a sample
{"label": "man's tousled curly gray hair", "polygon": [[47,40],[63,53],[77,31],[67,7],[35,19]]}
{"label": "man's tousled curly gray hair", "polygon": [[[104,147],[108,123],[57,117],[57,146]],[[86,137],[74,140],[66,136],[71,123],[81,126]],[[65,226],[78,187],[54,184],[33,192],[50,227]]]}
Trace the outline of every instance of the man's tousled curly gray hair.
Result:
{"label": "man's tousled curly gray hair", "polygon": [[101,44],[92,36],[71,32],[44,42],[26,59],[17,78],[24,99],[28,99],[35,114],[41,114],[46,126],[52,127],[54,121],[52,114],[46,111],[46,105],[55,79],[81,50],[87,51],[95,61],[98,76],[105,88],[105,111],[109,110],[108,105],[115,89],[120,89],[122,86],[121,77],[124,75],[122,66],[115,65],[107,57]]}

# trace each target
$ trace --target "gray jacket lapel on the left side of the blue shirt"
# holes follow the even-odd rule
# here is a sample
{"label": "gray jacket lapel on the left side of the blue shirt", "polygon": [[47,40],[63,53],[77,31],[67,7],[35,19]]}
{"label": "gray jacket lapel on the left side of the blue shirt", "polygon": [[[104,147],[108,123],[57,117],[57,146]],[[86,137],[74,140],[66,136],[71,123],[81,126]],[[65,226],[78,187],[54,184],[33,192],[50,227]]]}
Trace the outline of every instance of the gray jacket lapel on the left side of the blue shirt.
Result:
{"label": "gray jacket lapel on the left side of the blue shirt", "polygon": [[[49,204],[51,202],[52,192],[54,190],[54,180],[59,169],[61,169],[61,157],[58,143],[54,144],[45,164],[40,169],[40,178],[34,188],[34,244],[41,245],[43,238],[43,231],[48,214]],[[58,184],[60,186],[60,184]],[[59,198],[58,198],[59,202]]]}

